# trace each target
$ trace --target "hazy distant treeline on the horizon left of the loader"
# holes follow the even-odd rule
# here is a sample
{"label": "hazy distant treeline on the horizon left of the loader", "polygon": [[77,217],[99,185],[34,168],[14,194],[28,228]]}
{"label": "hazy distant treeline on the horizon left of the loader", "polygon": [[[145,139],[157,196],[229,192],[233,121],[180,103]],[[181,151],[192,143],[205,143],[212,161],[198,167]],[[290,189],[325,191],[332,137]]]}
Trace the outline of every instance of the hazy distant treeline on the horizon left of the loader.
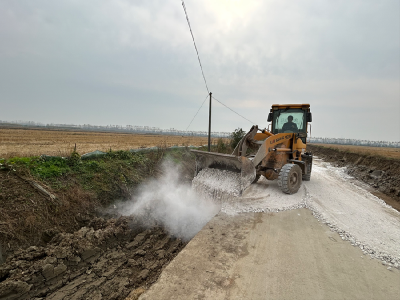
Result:
{"label": "hazy distant treeline on the horizon left of the loader", "polygon": [[[138,133],[138,134],[161,134],[161,135],[180,135],[180,136],[208,136],[207,131],[185,131],[178,130],[175,128],[161,129],[159,127],[150,126],[134,126],[134,125],[107,125],[98,126],[91,124],[74,125],[74,124],[43,124],[33,121],[1,121],[2,125],[18,125],[24,127],[41,127],[47,129],[66,129],[66,130],[85,130],[85,131],[110,131],[110,132],[122,132],[122,133]],[[228,138],[231,135],[230,132],[211,132],[212,137]]]}

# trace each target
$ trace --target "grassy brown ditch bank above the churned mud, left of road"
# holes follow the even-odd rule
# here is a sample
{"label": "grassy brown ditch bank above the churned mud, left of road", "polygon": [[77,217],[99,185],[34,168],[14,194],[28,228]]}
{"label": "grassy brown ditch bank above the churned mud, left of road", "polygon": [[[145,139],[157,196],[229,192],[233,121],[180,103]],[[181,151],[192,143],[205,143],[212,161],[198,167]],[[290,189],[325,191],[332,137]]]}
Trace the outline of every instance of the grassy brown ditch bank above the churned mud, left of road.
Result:
{"label": "grassy brown ditch bank above the churned mud, left of road", "polygon": [[78,230],[96,211],[130,199],[137,185],[159,176],[166,157],[182,165],[191,180],[194,156],[187,148],[109,151],[86,160],[76,152],[65,158],[0,159],[0,252],[43,245],[59,232]]}

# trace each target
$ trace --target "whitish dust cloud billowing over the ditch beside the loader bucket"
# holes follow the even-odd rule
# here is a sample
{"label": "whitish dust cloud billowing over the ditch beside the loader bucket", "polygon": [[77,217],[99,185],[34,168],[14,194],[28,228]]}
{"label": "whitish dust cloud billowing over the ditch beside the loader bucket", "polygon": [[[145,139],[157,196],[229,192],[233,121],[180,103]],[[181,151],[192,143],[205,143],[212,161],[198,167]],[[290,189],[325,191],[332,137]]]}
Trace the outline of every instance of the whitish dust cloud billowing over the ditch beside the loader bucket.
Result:
{"label": "whitish dust cloud billowing over the ditch beside the loader bucket", "polygon": [[182,180],[179,166],[162,164],[162,176],[142,184],[132,200],[122,205],[122,215],[138,216],[148,224],[162,225],[172,235],[190,240],[219,212],[220,206],[200,197]]}

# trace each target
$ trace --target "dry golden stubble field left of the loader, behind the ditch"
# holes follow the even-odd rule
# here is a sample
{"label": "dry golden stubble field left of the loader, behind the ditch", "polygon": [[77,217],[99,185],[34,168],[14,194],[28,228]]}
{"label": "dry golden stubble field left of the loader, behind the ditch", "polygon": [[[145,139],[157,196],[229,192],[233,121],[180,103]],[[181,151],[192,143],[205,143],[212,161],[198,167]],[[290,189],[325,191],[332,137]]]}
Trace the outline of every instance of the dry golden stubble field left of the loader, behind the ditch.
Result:
{"label": "dry golden stubble field left of the loader, behind the ditch", "polygon": [[[217,139],[212,139],[216,144]],[[76,144],[77,152],[94,150],[129,150],[153,146],[201,146],[206,137],[142,135],[110,132],[82,132],[40,129],[0,129],[0,158],[37,156],[42,154],[67,156]]]}

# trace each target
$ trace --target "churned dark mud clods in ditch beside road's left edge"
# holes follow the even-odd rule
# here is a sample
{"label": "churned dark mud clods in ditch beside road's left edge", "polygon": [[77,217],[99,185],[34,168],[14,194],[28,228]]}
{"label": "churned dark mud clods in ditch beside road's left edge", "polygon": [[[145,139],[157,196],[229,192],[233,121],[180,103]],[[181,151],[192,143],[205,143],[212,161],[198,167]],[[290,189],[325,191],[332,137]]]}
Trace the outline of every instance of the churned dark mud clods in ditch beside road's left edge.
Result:
{"label": "churned dark mud clods in ditch beside road's left edge", "polygon": [[140,224],[96,218],[73,234],[56,234],[47,247],[16,251],[0,266],[0,299],[125,299],[144,291],[184,243]]}

